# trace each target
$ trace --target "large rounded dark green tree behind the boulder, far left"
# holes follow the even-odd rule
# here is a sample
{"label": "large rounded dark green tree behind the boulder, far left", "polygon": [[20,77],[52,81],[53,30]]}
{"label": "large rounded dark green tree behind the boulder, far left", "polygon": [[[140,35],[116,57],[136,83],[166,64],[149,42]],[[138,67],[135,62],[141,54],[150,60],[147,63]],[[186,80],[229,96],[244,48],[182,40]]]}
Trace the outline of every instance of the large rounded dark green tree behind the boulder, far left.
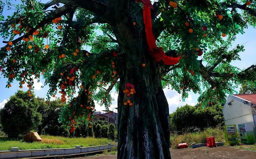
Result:
{"label": "large rounded dark green tree behind the boulder, far left", "polygon": [[8,137],[17,138],[31,130],[37,129],[41,121],[41,114],[37,112],[38,101],[33,92],[18,91],[10,97],[0,110],[2,130]]}

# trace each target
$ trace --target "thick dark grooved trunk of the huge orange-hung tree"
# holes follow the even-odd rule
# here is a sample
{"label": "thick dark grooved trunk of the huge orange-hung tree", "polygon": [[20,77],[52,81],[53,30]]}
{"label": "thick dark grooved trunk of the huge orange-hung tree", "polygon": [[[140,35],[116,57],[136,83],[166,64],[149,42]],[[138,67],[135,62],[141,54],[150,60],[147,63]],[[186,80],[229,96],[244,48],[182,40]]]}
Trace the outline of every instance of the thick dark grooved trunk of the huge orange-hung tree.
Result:
{"label": "thick dark grooved trunk of the huge orange-hung tree", "polygon": [[[160,66],[148,53],[144,27],[116,23],[113,32],[125,55],[119,72],[118,159],[170,159],[169,107],[160,79]],[[131,22],[131,21],[130,21]],[[146,64],[145,67],[142,64]],[[125,84],[135,91],[123,93]],[[124,105],[130,100],[133,105]]]}

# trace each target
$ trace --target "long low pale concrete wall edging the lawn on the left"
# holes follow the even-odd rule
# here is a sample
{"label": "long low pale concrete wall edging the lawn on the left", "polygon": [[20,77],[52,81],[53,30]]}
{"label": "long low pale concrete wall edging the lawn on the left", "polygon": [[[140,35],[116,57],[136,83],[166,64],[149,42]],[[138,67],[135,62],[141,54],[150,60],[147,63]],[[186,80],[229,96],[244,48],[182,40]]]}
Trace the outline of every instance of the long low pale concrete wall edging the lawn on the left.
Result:
{"label": "long low pale concrete wall edging the lawn on the left", "polygon": [[81,148],[56,148],[56,149],[36,149],[36,150],[19,150],[19,151],[0,151],[0,158],[19,158],[19,157],[36,157],[36,156],[52,156],[67,155],[91,152],[97,150],[110,149],[116,144],[91,146]]}

